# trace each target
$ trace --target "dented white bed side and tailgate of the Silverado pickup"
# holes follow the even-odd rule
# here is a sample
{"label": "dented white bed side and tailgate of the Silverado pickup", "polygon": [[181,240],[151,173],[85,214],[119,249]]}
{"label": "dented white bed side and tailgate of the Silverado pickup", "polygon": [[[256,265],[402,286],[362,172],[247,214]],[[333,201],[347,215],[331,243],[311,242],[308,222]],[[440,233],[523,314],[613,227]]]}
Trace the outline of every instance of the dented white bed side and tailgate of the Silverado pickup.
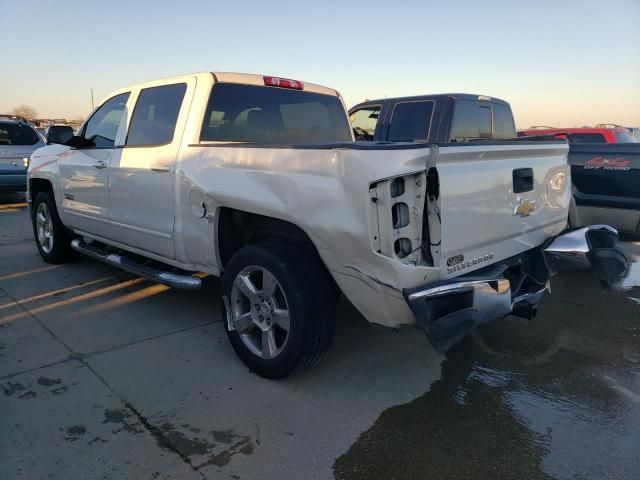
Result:
{"label": "dented white bed side and tailgate of the Silverado pickup", "polygon": [[[361,313],[371,322],[397,326],[415,323],[403,289],[471,272],[539,246],[564,228],[568,194],[566,188],[550,193],[548,179],[565,171],[565,154],[563,144],[405,150],[192,145],[180,161],[179,197],[205,199],[208,212],[231,207],[299,226]],[[482,160],[483,155],[491,160]],[[537,211],[527,218],[513,215],[519,196],[512,194],[511,180],[506,180],[522,164],[536,166],[531,195]],[[432,202],[429,168],[441,171],[438,198]],[[473,171],[473,182],[456,185],[465,169]],[[504,171],[508,173],[499,176]],[[427,210],[425,202],[430,205]],[[398,204],[403,213],[398,213]],[[429,209],[440,210],[442,223],[430,224],[433,238],[427,248],[436,261],[431,264],[422,249],[423,212]],[[201,233],[194,234],[207,236],[198,240],[183,235],[183,242],[206,244],[215,226],[196,218],[191,208],[180,211],[183,224],[200,222]],[[403,238],[410,242],[408,251],[397,248]],[[449,255],[474,258],[487,249],[493,261],[447,271]],[[222,269],[217,262],[209,267]]]}

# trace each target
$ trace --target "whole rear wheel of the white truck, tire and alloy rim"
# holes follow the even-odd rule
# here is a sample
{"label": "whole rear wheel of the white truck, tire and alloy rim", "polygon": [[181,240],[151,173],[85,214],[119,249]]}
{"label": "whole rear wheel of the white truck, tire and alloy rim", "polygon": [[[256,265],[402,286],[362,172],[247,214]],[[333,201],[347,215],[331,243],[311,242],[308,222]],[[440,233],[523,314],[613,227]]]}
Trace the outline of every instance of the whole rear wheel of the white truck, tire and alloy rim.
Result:
{"label": "whole rear wheel of the white truck, tire and alloy rim", "polygon": [[314,366],[333,339],[335,294],[314,252],[284,242],[243,247],[224,272],[222,295],[231,345],[261,377]]}

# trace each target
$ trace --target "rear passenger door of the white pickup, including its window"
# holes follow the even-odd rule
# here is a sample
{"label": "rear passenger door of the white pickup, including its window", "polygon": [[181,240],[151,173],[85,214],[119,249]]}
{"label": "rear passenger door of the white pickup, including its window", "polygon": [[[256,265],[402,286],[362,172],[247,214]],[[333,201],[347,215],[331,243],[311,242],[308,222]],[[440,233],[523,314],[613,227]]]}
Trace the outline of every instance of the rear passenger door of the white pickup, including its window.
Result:
{"label": "rear passenger door of the white pickup, including its window", "polygon": [[195,78],[141,89],[124,146],[109,170],[114,239],[175,258],[176,159]]}

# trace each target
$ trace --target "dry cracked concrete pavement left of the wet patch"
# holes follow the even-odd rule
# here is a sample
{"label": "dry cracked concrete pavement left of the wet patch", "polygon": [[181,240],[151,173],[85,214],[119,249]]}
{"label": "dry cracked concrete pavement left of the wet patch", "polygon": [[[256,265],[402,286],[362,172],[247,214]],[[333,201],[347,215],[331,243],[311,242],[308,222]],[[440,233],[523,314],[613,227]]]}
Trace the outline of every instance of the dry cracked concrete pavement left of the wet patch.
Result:
{"label": "dry cracked concrete pavement left of the wet patch", "polygon": [[228,345],[216,279],[179,292],[85,258],[47,265],[25,206],[11,205],[0,211],[0,478],[332,478],[383,410],[439,376],[418,331],[372,327],[341,305],[319,367],[260,379]]}

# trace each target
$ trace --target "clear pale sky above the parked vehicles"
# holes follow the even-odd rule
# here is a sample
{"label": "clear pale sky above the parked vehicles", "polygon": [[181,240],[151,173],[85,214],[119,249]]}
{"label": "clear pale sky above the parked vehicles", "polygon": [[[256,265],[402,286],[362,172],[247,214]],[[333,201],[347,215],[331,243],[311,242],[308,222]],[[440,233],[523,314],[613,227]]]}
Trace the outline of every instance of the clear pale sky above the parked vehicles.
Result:
{"label": "clear pale sky above the parked vehicles", "polygon": [[84,117],[110,90],[202,70],[365,98],[469,92],[519,127],[640,126],[640,0],[0,0],[0,112]]}

